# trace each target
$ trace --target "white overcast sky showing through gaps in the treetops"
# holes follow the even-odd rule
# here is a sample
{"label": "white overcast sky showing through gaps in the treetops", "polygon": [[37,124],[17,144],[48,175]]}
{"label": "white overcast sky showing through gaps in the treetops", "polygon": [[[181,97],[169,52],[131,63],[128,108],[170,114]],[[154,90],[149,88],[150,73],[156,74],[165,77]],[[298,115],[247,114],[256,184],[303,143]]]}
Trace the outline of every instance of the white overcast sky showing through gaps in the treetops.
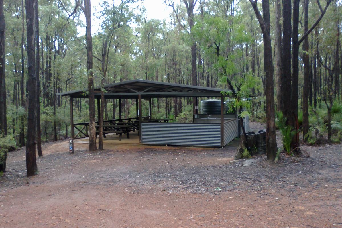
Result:
{"label": "white overcast sky showing through gaps in the treetops", "polygon": [[[99,13],[101,11],[100,7],[100,2],[101,0],[91,0],[91,12],[93,13]],[[116,1],[120,2],[120,1]],[[175,1],[177,2],[177,1]],[[143,5],[146,8],[146,16],[147,19],[159,19],[163,21],[163,19],[168,19],[170,13],[172,12],[172,8],[170,6],[167,6],[164,3],[164,0],[144,0],[144,1],[139,1],[137,3],[138,5]],[[86,24],[86,18],[84,17],[84,14],[81,13],[80,19],[84,22],[84,25]],[[96,34],[98,31],[100,31],[101,28],[101,20],[96,18],[95,16],[92,15],[92,34]],[[134,26],[134,25],[133,25]],[[86,34],[86,28],[78,27],[77,31],[79,32],[79,36],[85,35]]]}

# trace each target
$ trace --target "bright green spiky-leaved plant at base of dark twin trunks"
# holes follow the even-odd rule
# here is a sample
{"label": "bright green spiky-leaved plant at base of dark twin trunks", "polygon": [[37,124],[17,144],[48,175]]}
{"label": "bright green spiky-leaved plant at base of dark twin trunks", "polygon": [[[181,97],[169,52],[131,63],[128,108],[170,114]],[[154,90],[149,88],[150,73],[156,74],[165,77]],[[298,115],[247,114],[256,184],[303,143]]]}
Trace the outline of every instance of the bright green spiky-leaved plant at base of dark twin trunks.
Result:
{"label": "bright green spiky-leaved plant at base of dark twin trunks", "polygon": [[282,112],[276,112],[277,120],[276,125],[279,128],[282,135],[282,144],[288,155],[292,155],[291,151],[291,141],[292,138],[297,134],[298,131],[293,130],[291,125],[287,125],[287,118],[284,117]]}

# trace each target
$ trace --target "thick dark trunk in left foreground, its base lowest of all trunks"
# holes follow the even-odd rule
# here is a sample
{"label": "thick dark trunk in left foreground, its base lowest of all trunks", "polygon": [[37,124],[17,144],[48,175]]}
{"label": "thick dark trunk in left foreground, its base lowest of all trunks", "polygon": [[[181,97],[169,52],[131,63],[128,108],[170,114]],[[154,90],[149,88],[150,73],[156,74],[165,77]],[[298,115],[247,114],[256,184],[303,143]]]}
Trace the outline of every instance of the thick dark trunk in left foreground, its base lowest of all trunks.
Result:
{"label": "thick dark trunk in left foreground, its base lowest of all trunks", "polygon": [[35,56],[35,5],[36,0],[25,0],[26,26],[27,26],[27,71],[28,71],[28,116],[27,116],[27,143],[26,143],[26,174],[36,175],[38,172],[36,162],[36,126],[37,126],[37,81]]}

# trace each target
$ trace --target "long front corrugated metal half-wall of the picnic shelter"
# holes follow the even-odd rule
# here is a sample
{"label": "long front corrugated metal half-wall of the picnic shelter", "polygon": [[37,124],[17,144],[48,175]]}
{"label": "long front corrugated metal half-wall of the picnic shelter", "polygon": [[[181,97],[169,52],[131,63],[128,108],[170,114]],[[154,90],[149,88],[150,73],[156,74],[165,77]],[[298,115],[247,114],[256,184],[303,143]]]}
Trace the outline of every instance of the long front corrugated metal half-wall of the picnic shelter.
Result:
{"label": "long front corrugated metal half-wall of the picnic shelter", "polygon": [[142,123],[142,144],[221,146],[220,124],[205,123]]}

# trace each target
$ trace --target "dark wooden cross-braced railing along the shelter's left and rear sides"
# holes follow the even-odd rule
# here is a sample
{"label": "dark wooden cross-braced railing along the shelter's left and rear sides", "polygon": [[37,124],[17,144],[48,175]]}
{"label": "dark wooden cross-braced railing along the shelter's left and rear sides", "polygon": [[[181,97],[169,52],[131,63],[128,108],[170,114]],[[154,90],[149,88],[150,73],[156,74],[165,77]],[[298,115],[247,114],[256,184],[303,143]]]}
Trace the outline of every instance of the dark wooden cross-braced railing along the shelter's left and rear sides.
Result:
{"label": "dark wooden cross-braced railing along the shelter's left and rear sides", "polygon": [[[143,119],[151,118],[151,116],[144,116]],[[130,122],[132,120],[138,120],[139,118],[133,117],[133,118],[124,118],[124,119],[115,119],[115,120],[104,120],[104,124],[116,124],[117,122]],[[95,122],[96,124],[100,124],[99,121]],[[86,138],[89,137],[89,122],[84,123],[74,123],[74,139],[78,138]]]}

